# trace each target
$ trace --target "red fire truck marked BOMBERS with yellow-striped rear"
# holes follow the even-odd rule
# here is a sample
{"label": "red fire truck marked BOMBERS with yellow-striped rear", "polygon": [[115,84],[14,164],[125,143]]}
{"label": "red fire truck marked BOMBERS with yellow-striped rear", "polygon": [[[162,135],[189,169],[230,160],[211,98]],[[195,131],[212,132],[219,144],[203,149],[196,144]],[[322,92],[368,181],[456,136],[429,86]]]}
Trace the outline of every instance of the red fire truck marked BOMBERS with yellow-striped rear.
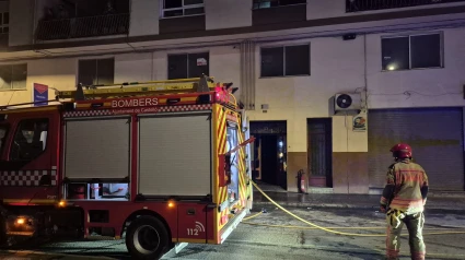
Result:
{"label": "red fire truck marked BOMBERS with yellow-striped rear", "polygon": [[80,84],[0,107],[0,243],[124,237],[133,259],[222,244],[253,202],[236,90],[207,75]]}

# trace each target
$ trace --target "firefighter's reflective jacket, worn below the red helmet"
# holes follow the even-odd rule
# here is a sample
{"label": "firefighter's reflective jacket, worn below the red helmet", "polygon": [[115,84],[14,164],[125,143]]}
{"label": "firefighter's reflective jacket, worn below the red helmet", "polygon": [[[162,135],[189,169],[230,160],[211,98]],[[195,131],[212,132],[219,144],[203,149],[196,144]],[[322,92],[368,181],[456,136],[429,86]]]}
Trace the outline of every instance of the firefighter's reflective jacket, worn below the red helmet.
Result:
{"label": "firefighter's reflective jacket, worn below the red helmet", "polygon": [[406,214],[423,211],[428,193],[428,176],[425,169],[410,159],[402,159],[390,166],[381,204]]}

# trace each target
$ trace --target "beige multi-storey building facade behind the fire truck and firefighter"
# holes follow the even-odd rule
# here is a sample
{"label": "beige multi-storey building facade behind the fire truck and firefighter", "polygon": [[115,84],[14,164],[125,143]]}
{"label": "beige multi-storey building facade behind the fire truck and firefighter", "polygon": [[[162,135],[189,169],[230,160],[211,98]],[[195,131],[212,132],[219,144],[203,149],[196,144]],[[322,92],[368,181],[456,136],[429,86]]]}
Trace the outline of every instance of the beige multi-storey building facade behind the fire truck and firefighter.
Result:
{"label": "beige multi-storey building facade behind the fire truck and firefighter", "polygon": [[465,1],[373,2],[0,1],[0,104],[32,102],[34,83],[206,73],[240,87],[257,179],[297,191],[303,169],[311,187],[379,193],[407,142],[433,190],[464,191]]}

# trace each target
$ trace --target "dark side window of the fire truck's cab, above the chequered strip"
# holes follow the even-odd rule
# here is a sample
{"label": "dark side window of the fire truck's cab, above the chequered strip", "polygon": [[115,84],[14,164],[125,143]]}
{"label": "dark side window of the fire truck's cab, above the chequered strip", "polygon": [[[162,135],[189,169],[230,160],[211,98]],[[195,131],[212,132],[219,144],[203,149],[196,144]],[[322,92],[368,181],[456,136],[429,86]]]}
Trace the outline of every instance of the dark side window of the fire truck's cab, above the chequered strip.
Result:
{"label": "dark side window of the fire truck's cab, above the chequered strip", "polygon": [[25,119],[20,122],[11,144],[11,161],[31,161],[47,146],[48,119]]}

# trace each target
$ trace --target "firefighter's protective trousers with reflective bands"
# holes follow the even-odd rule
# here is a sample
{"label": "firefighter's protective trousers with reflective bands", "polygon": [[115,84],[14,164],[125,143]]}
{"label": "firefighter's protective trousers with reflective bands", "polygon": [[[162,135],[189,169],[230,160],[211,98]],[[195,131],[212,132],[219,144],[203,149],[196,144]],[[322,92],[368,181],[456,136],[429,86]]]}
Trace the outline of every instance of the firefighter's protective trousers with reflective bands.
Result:
{"label": "firefighter's protective trousers with reflective bands", "polygon": [[386,259],[398,259],[400,250],[400,233],[404,224],[408,229],[408,244],[410,245],[410,256],[414,260],[423,260],[426,246],[423,243],[425,214],[404,214],[397,210],[391,210],[386,215],[387,237],[386,237]]}

